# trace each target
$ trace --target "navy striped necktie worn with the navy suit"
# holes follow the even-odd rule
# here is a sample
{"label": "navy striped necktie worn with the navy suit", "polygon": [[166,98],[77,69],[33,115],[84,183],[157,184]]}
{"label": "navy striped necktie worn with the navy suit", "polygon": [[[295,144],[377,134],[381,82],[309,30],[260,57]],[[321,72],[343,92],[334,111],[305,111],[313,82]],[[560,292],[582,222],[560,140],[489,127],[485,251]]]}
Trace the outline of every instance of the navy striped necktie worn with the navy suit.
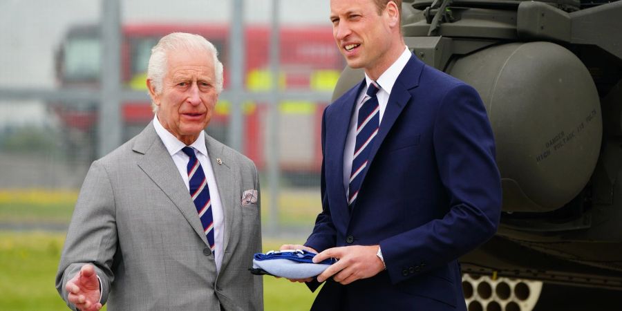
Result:
{"label": "navy striped necktie worn with the navy suit", "polygon": [[357,141],[355,144],[354,157],[352,158],[352,173],[350,174],[350,185],[348,187],[348,207],[354,205],[361,183],[363,182],[363,172],[365,171],[369,152],[373,147],[374,138],[380,126],[380,108],[376,93],[379,86],[376,82],[371,82],[367,88],[367,93],[363,97],[363,104],[359,108],[359,119],[357,122]]}

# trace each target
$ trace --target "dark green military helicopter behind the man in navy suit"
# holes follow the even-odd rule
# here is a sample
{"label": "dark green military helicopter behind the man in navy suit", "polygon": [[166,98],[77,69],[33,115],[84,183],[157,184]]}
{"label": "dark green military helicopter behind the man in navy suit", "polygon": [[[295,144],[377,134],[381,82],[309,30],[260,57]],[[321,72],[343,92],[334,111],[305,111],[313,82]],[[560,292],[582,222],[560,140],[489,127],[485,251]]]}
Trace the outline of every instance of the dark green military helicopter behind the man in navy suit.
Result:
{"label": "dark green military helicopter behind the man in navy suit", "polygon": [[[498,277],[622,290],[622,1],[402,8],[406,45],[478,90],[496,137],[503,213],[461,258],[469,310],[531,310],[531,283]],[[346,68],[334,98],[362,77]]]}

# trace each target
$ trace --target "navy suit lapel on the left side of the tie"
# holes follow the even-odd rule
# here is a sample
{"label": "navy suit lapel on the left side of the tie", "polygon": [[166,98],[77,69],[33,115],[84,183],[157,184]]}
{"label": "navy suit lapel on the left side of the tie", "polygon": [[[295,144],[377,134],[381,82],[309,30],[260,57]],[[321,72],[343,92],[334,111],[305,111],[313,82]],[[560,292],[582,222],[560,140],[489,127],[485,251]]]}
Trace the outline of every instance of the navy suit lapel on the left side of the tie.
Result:
{"label": "navy suit lapel on the left side of the tie", "polygon": [[358,94],[364,85],[365,79],[359,83],[357,88],[352,88],[349,93],[334,102],[334,115],[326,118],[326,158],[334,159],[331,167],[327,167],[327,169],[330,170],[332,176],[332,189],[337,189],[336,195],[339,203],[336,209],[331,209],[331,213],[339,213],[341,219],[350,218],[346,189],[343,187],[343,153],[346,149],[346,138],[348,129],[350,129],[352,113],[356,107]]}

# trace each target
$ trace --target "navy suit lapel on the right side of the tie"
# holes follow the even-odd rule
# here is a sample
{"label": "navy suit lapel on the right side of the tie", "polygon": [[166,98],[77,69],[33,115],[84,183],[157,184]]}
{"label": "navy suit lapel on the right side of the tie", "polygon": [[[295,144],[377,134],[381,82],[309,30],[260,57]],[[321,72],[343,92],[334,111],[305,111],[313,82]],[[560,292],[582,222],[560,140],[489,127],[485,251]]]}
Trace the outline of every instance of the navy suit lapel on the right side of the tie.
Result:
{"label": "navy suit lapel on the right side of the tie", "polygon": [[[369,164],[367,169],[363,171],[363,181],[361,182],[361,187],[363,187],[367,172],[373,165],[373,160],[376,153],[378,153],[378,149],[380,149],[386,135],[388,135],[391,127],[395,124],[395,120],[397,120],[399,114],[402,113],[404,107],[406,107],[406,104],[411,102],[411,100],[414,100],[411,98],[413,97],[411,89],[419,86],[419,77],[423,68],[423,63],[420,62],[415,55],[411,54],[411,59],[408,60],[408,63],[406,63],[406,66],[402,69],[402,73],[399,73],[397,76],[395,84],[393,84],[393,89],[391,90],[391,95],[388,98],[384,115],[382,116],[382,120],[380,122],[380,129],[369,153]],[[356,207],[354,209],[356,209]]]}

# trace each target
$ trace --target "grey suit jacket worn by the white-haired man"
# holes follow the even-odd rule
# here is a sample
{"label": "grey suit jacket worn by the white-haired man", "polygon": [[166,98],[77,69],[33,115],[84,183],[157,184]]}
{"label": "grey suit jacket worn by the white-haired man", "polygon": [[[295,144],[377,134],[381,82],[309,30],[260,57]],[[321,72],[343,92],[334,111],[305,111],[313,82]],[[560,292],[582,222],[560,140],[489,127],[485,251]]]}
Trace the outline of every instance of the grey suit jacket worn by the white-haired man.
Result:
{"label": "grey suit jacket worn by the white-haired man", "polygon": [[150,123],[88,171],[56,276],[65,301],[66,282],[92,263],[108,310],[263,310],[262,279],[247,270],[261,252],[259,200],[241,203],[245,190],[259,190],[256,168],[208,135],[205,144],[225,215],[220,273],[189,192]]}

